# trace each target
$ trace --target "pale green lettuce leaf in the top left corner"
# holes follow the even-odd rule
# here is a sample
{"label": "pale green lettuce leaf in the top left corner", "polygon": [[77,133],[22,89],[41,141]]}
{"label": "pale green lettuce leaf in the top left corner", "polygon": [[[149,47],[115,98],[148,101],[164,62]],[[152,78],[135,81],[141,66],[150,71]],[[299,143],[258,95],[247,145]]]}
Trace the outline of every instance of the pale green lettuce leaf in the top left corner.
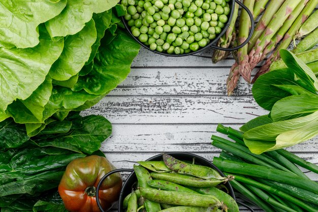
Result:
{"label": "pale green lettuce leaf in the top left corner", "polygon": [[0,2],[0,47],[31,48],[39,44],[40,23],[54,18],[67,0],[5,0]]}

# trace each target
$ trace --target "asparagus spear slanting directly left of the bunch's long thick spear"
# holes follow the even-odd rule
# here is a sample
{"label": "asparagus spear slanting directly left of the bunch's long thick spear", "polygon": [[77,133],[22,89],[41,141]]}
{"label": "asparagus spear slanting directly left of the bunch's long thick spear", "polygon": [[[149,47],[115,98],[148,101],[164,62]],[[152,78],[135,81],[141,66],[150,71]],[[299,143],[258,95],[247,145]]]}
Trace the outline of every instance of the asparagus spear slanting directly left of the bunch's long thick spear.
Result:
{"label": "asparagus spear slanting directly left of the bunch's long thick spear", "polygon": [[262,35],[267,25],[270,23],[273,16],[275,15],[279,7],[283,4],[283,2],[284,0],[270,1],[261,19],[256,24],[253,35],[248,42],[248,52],[250,52],[253,46],[255,46],[257,39]]}

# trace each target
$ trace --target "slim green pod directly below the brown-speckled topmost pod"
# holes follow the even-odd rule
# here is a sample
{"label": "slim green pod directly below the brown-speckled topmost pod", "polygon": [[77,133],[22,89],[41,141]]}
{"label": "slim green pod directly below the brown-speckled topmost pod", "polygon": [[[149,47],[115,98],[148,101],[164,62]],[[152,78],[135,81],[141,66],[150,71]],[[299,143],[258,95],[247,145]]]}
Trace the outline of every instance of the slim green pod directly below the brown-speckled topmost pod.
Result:
{"label": "slim green pod directly below the brown-speckled topmost pod", "polygon": [[184,175],[184,174],[178,174],[178,173],[155,173],[151,172],[151,176],[154,179],[161,179],[161,180],[167,180],[175,184],[183,185],[183,186],[192,186],[192,187],[214,187],[217,186],[220,183],[226,183],[227,181],[232,179],[232,176],[228,176],[228,178],[225,179],[201,179],[194,176]]}

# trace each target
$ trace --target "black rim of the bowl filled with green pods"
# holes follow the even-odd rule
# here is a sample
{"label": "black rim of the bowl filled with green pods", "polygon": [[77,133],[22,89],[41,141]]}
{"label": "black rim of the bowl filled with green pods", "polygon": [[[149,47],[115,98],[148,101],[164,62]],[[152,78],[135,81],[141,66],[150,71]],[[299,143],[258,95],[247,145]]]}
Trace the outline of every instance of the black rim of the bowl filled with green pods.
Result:
{"label": "black rim of the bowl filled with green pods", "polygon": [[[201,156],[198,156],[198,155],[195,155],[195,154],[192,154],[192,153],[184,153],[184,152],[169,152],[169,153],[165,153],[165,154],[168,154],[168,155],[171,155],[173,157],[176,157],[175,155],[181,155],[181,156],[188,156],[188,157],[192,157],[192,158],[196,158],[196,159],[199,159],[199,160],[202,160],[204,161],[205,163],[209,164],[212,168],[214,168],[218,173],[220,173],[221,176],[225,176],[223,172],[221,172],[212,162],[210,162],[209,160],[201,157]],[[148,158],[146,161],[153,161],[153,160],[157,160],[158,158],[162,158],[163,154],[158,154],[158,155],[155,155],[151,158]],[[126,179],[125,183],[123,184],[122,188],[121,188],[121,191],[120,191],[120,195],[119,195],[119,200],[118,200],[118,212],[121,212],[123,211],[122,209],[122,202],[123,202],[123,199],[125,198],[123,195],[124,195],[124,191],[128,188],[128,186],[132,186],[132,185],[128,185],[127,183],[131,180],[131,178],[133,177],[136,177],[136,174],[135,174],[135,171],[133,171],[129,176],[128,178]],[[236,201],[236,198],[235,198],[235,194],[234,194],[234,191],[233,191],[233,188],[230,184],[230,182],[227,182],[225,184],[227,186],[227,188],[229,189],[229,195],[231,195],[231,197]]]}

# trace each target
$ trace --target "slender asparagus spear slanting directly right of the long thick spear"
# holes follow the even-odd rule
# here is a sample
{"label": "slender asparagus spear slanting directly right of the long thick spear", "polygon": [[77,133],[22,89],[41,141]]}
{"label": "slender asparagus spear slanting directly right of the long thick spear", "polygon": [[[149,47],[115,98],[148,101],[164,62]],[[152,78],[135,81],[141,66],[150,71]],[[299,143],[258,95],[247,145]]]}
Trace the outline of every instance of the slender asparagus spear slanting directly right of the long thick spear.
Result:
{"label": "slender asparagus spear slanting directly right of the long thick spear", "polygon": [[283,23],[282,27],[279,29],[279,31],[276,33],[276,35],[271,39],[270,43],[266,46],[266,48],[263,51],[263,55],[261,60],[263,60],[269,52],[274,50],[276,44],[283,38],[285,33],[287,33],[288,29],[290,29],[291,25],[294,23],[296,18],[299,16],[301,11],[306,6],[308,0],[302,0],[296,7],[295,10],[290,14],[288,19]]}

